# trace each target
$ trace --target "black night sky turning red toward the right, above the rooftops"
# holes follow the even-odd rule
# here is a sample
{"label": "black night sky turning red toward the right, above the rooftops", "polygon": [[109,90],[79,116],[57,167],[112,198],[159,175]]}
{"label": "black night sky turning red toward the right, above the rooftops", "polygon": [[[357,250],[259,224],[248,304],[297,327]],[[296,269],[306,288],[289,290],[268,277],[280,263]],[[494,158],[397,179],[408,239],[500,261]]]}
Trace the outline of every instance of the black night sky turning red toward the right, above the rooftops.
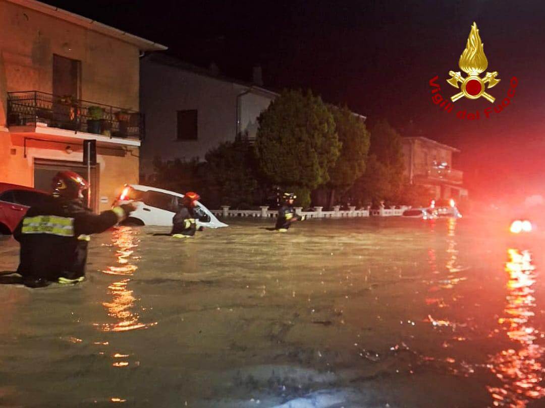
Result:
{"label": "black night sky turning red toward the right, above the rooftops", "polygon": [[[535,1],[184,1],[46,0],[169,47],[196,65],[214,62],[227,76],[249,80],[263,67],[265,87],[312,89],[346,103],[372,125],[387,119],[402,135],[422,135],[462,150],[474,197],[545,195],[545,3]],[[462,121],[431,102],[429,79],[448,85],[470,27],[477,23],[487,71],[501,82],[488,90],[500,102],[511,77],[516,96],[491,118]],[[490,107],[465,98],[455,112]]]}

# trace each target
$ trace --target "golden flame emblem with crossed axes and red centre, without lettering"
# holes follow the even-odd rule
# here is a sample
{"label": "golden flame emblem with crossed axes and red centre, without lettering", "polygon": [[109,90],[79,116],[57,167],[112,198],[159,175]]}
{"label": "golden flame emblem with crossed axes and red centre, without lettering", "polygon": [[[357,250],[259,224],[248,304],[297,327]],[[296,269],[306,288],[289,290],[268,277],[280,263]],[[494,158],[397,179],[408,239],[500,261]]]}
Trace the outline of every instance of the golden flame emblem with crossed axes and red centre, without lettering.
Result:
{"label": "golden flame emblem with crossed axes and red centre, without lettering", "polygon": [[[462,71],[468,74],[468,77],[462,77],[460,71],[449,72],[452,78],[447,79],[446,82],[455,88],[461,88],[461,92],[451,96],[451,101],[456,102],[462,96],[469,99],[477,99],[482,96],[487,101],[494,102],[495,98],[485,91],[486,84],[488,84],[488,88],[492,88],[500,82],[500,79],[496,79],[498,71],[487,72],[484,78],[480,77],[480,74],[488,67],[488,60],[485,55],[485,46],[482,44],[479,29],[475,22],[471,26],[468,43],[462,55],[460,55],[458,65]],[[458,82],[461,85],[458,85]]]}

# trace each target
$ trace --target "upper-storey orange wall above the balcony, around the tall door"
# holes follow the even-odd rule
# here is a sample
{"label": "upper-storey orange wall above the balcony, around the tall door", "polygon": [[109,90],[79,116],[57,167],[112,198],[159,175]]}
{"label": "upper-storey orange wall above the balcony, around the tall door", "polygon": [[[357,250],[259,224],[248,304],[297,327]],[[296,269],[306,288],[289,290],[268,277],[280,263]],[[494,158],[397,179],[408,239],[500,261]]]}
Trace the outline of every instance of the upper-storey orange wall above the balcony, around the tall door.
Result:
{"label": "upper-storey orange wall above the balcony, around the tall door", "polygon": [[138,109],[136,46],[4,0],[0,27],[0,126],[7,92],[52,92],[53,54],[81,61],[83,100]]}

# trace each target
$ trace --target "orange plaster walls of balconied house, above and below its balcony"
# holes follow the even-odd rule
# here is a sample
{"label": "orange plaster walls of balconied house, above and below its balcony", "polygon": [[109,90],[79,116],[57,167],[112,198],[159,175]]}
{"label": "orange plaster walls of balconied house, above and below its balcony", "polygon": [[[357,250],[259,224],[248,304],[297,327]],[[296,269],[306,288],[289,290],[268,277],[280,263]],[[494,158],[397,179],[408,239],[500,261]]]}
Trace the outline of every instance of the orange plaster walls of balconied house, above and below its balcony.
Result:
{"label": "orange plaster walls of balconied house, above and below its balcony", "polygon": [[[137,110],[139,51],[134,45],[93,32],[53,16],[0,0],[0,182],[34,186],[34,159],[81,163],[78,143],[27,140],[8,132],[7,92],[52,92],[53,54],[81,61],[83,100]],[[28,137],[33,137],[29,134]],[[40,138],[40,137],[37,137]],[[70,145],[73,152],[66,153]],[[124,183],[138,181],[138,148],[98,147],[99,196],[111,202]]]}

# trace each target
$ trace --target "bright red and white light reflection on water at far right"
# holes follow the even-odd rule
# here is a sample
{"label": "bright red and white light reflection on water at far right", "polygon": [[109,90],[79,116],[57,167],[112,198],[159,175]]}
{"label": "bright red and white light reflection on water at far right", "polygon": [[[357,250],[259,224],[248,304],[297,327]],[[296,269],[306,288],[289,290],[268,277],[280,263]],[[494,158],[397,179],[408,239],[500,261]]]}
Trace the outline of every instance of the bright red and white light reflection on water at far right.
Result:
{"label": "bright red and white light reflection on water at far right", "polygon": [[[508,249],[508,273],[505,314],[498,319],[513,348],[500,351],[491,359],[491,370],[501,381],[500,387],[488,386],[494,406],[525,407],[531,399],[545,397],[540,386],[543,378],[543,347],[534,344],[540,336],[534,327],[534,283],[537,279],[531,253]],[[516,350],[518,348],[518,350]]]}

